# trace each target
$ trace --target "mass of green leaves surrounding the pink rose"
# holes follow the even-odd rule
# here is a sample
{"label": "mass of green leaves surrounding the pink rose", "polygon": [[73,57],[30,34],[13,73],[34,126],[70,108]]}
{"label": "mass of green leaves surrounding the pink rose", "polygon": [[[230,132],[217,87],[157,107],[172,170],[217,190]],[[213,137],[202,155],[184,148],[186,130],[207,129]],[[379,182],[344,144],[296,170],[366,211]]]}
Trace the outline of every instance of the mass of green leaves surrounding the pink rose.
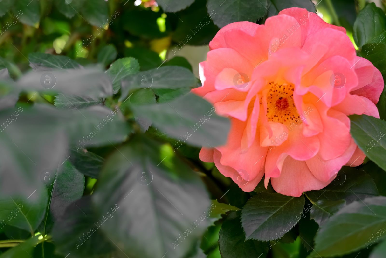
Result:
{"label": "mass of green leaves surrounding the pink rose", "polygon": [[381,119],[350,116],[364,164],[298,198],[201,162],[229,121],[188,93],[219,28],[289,7],[345,27],[385,78],[376,4],[0,0],[0,258],[385,257],[385,91]]}

